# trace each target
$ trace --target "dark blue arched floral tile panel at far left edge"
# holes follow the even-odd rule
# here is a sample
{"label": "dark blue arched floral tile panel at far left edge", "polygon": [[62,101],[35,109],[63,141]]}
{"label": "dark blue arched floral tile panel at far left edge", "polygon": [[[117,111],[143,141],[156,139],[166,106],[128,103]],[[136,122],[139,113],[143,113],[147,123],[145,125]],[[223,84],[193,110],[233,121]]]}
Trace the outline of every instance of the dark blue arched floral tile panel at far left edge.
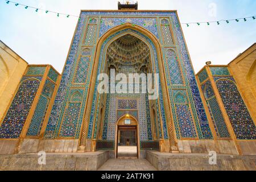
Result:
{"label": "dark blue arched floral tile panel at far left edge", "polygon": [[0,138],[19,138],[30,111],[40,81],[32,78],[19,86],[5,119],[0,126]]}

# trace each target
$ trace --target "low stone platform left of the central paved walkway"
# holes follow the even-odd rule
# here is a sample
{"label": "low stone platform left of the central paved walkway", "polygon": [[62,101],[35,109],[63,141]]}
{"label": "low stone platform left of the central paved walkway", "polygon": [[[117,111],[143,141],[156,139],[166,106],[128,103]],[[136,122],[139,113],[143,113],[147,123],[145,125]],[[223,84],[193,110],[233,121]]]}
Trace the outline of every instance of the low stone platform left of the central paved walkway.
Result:
{"label": "low stone platform left of the central paved walkway", "polygon": [[[85,153],[46,153],[46,165],[36,154],[0,155],[0,169],[5,171],[96,171],[109,159],[109,151]],[[40,160],[42,162],[43,160]]]}

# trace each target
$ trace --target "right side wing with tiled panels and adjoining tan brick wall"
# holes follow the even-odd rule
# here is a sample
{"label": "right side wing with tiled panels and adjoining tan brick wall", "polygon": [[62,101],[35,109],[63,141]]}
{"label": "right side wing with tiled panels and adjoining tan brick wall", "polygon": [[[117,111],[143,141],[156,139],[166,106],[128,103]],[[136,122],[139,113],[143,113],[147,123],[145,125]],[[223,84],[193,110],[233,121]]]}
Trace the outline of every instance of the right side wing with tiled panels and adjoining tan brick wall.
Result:
{"label": "right side wing with tiled panels and adjoining tan brick wall", "polygon": [[256,43],[228,65],[206,65],[196,75],[216,138],[233,140],[242,155],[256,155],[255,65]]}

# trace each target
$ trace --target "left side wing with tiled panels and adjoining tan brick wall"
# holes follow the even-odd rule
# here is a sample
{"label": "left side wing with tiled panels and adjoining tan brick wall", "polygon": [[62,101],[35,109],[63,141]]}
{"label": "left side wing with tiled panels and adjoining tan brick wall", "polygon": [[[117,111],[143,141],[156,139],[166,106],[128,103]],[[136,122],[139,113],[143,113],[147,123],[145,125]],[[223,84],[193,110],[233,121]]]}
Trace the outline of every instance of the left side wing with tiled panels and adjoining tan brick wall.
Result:
{"label": "left side wing with tiled panels and adjoining tan brick wall", "polygon": [[[40,138],[60,74],[51,65],[30,65],[0,42],[0,154],[14,154],[23,138]],[[39,140],[38,140],[39,141]]]}

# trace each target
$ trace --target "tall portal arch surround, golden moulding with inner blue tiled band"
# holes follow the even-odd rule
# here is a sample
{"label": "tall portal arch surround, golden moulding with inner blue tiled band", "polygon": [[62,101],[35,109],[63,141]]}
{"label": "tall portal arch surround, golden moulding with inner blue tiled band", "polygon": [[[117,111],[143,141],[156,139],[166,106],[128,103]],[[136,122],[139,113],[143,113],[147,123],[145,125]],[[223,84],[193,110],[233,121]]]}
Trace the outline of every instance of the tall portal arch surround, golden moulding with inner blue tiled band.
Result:
{"label": "tall portal arch surround, golden moulding with inner blue tiled band", "polygon": [[[117,40],[123,35],[131,34],[136,36],[137,38],[141,39],[147,46],[150,48],[151,52],[151,69],[154,73],[159,73],[159,82],[161,85],[161,90],[156,102],[156,112],[159,119],[159,138],[163,138],[168,140],[168,135],[170,136],[170,143],[175,144],[175,135],[174,135],[174,128],[172,126],[172,121],[170,117],[171,115],[171,105],[168,100],[164,100],[163,97],[168,97],[168,90],[167,90],[167,82],[166,78],[164,77],[164,69],[163,69],[163,60],[162,60],[162,49],[160,48],[160,43],[158,39],[151,34],[148,30],[143,27],[133,25],[130,23],[123,24],[121,26],[114,27],[110,29],[106,34],[102,35],[101,38],[97,42],[96,46],[96,53],[94,55],[94,65],[93,70],[95,72],[92,73],[92,81],[90,84],[89,96],[90,101],[86,104],[86,112],[84,116],[84,124],[82,128],[81,138],[80,138],[80,147],[83,148],[86,144],[86,140],[96,139],[97,129],[98,129],[98,102],[100,100],[100,96],[97,94],[94,95],[94,89],[97,88],[98,83],[96,80],[97,73],[104,72],[103,69],[105,67],[105,56],[106,51],[109,45]],[[92,108],[94,108],[92,110]],[[97,108],[95,110],[95,108]],[[96,113],[96,114],[95,114]],[[168,129],[167,129],[168,128]],[[88,142],[90,143],[90,142]],[[91,146],[93,148],[93,146]],[[166,148],[168,150],[168,148]]]}

